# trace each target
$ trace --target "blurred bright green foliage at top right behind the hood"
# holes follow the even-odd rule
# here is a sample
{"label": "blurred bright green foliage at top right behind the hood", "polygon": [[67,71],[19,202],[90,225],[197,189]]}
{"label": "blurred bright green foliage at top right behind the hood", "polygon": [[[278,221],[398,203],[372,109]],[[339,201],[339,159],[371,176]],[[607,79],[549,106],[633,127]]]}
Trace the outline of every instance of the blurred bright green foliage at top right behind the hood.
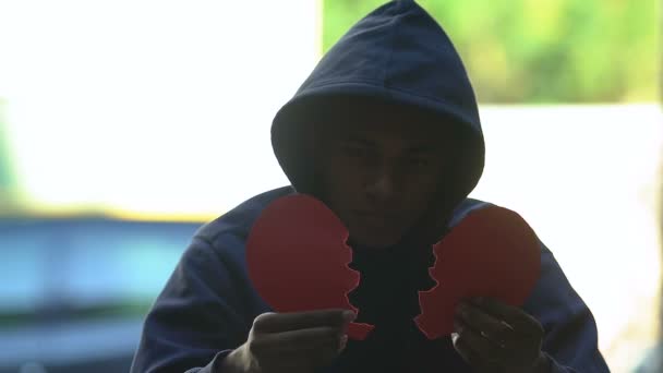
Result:
{"label": "blurred bright green foliage at top right behind the hood", "polygon": [[[323,49],[384,0],[323,0]],[[420,0],[454,40],[483,103],[658,97],[654,0]]]}

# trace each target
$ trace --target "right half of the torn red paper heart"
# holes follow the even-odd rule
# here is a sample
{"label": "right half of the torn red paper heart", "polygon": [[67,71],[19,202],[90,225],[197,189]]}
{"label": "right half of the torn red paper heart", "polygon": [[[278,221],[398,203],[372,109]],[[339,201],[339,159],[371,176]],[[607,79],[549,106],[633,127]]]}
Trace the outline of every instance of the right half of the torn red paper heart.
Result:
{"label": "right half of the torn red paper heart", "polygon": [[422,313],[414,317],[430,339],[453,333],[460,300],[489,297],[520,306],[540,275],[537,234],[520,215],[503,207],[471,212],[433,252],[436,261],[429,272],[437,286],[419,292]]}

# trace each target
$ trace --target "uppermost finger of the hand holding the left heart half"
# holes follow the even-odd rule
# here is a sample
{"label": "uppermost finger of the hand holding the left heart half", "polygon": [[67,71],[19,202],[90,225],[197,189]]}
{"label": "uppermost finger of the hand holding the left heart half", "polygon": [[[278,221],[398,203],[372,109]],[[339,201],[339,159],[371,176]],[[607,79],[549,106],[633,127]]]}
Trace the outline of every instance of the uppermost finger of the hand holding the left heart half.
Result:
{"label": "uppermost finger of the hand holding the left heart half", "polygon": [[354,313],[352,311],[342,309],[264,313],[254,320],[253,329],[256,333],[278,333],[316,326],[341,326],[353,316]]}

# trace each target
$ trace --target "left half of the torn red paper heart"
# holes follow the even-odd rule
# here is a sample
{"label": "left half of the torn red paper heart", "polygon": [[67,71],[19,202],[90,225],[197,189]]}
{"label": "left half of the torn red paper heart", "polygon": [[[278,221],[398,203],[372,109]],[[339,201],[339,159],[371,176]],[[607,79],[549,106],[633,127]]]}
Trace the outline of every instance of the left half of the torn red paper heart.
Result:
{"label": "left half of the torn red paper heart", "polygon": [[[348,293],[359,273],[348,267],[348,229],[322,202],[303,194],[274,201],[246,241],[249,276],[277,312],[359,310]],[[372,325],[351,323],[348,337],[363,340]]]}

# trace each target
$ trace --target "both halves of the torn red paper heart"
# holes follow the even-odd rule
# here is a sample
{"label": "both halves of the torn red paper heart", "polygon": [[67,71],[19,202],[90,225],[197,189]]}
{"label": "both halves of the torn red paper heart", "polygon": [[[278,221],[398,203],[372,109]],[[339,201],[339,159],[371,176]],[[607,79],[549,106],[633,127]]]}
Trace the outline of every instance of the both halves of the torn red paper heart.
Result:
{"label": "both halves of the torn red paper heart", "polygon": [[[257,218],[246,241],[249,276],[276,312],[349,309],[348,293],[360,274],[348,267],[348,229],[321,201],[289,195]],[[414,322],[430,339],[453,332],[454,309],[462,299],[490,297],[521,305],[540,272],[537,236],[516,213],[489,206],[471,212],[433,248],[429,269],[437,285],[420,291]],[[348,336],[363,340],[369,324],[351,323]]]}

